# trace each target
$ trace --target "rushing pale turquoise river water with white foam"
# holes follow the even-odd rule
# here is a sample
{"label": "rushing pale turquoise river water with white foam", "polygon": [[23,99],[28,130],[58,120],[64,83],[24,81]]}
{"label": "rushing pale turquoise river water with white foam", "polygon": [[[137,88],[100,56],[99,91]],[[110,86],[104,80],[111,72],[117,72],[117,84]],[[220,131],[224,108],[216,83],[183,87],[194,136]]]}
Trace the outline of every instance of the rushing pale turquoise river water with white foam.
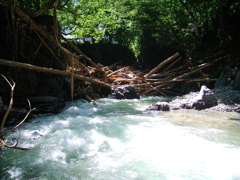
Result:
{"label": "rushing pale turquoise river water with white foam", "polygon": [[164,100],[76,101],[32,119],[19,146],[33,149],[0,151],[0,178],[240,179],[240,115],[145,111]]}

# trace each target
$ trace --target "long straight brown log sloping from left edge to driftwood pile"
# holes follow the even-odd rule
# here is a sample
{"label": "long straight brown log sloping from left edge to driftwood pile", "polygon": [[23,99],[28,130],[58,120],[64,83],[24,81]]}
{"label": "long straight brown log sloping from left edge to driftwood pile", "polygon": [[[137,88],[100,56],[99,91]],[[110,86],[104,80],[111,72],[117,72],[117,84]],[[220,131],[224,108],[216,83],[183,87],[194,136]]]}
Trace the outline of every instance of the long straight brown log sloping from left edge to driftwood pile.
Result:
{"label": "long straight brown log sloping from left edge to driftwood pile", "polygon": [[[30,70],[34,70],[34,71],[37,71],[37,72],[47,72],[47,73],[51,73],[51,74],[58,74],[58,75],[68,76],[68,77],[71,77],[71,75],[72,75],[69,72],[61,71],[61,70],[58,70],[58,69],[45,68],[45,67],[40,67],[40,66],[35,66],[35,65],[20,63],[20,62],[14,62],[14,61],[7,61],[7,60],[4,60],[4,59],[0,59],[0,64],[6,65],[6,66],[13,66],[13,67],[20,67],[20,68],[24,68],[24,69],[30,69]],[[74,74],[74,78],[80,79],[82,81],[87,81],[87,82],[90,82],[92,84],[97,84],[99,86],[106,86],[106,87],[110,88],[109,84],[106,84],[104,82],[97,81],[97,80],[94,80],[92,78],[85,77],[85,76],[82,76],[82,75]]]}

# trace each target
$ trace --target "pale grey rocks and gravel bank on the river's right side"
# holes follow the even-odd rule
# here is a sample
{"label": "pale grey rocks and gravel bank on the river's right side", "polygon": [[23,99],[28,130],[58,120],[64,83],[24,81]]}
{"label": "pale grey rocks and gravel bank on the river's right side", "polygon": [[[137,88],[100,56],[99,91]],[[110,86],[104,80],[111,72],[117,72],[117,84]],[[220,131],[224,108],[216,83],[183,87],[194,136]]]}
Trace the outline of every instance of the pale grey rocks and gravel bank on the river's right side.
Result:
{"label": "pale grey rocks and gravel bank on the river's right side", "polygon": [[240,91],[239,90],[234,90],[234,88],[231,86],[216,88],[213,90],[206,88],[204,90],[205,90],[205,93],[207,94],[206,96],[210,98],[203,97],[201,94],[203,92],[201,91],[191,92],[184,96],[176,96],[169,103],[159,102],[157,104],[149,106],[147,110],[169,111],[169,110],[177,110],[177,109],[196,109],[196,110],[210,111],[210,112],[234,112],[235,111],[240,113]]}

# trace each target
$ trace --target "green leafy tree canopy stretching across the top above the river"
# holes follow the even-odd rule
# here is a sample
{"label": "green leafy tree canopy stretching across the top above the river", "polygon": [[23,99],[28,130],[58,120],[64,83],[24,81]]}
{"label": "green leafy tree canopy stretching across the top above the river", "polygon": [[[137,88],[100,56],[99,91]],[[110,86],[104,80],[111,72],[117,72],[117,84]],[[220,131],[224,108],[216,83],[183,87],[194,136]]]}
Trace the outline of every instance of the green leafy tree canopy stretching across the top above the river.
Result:
{"label": "green leafy tree canopy stretching across the top above the river", "polygon": [[[34,12],[52,1],[17,2]],[[142,59],[151,47],[175,46],[191,56],[196,49],[240,40],[236,0],[60,0],[58,7],[66,37],[124,45]]]}

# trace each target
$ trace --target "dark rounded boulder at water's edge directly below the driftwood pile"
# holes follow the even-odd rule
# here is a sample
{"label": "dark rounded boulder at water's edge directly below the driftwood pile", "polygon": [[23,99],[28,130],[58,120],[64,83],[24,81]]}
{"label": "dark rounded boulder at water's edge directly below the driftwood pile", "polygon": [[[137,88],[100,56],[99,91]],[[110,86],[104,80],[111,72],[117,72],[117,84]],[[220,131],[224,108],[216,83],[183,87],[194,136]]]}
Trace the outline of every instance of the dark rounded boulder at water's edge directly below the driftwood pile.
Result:
{"label": "dark rounded boulder at water's edge directly below the driftwood pile", "polygon": [[136,93],[134,87],[132,86],[124,86],[112,89],[109,97],[114,99],[140,99],[139,94]]}

